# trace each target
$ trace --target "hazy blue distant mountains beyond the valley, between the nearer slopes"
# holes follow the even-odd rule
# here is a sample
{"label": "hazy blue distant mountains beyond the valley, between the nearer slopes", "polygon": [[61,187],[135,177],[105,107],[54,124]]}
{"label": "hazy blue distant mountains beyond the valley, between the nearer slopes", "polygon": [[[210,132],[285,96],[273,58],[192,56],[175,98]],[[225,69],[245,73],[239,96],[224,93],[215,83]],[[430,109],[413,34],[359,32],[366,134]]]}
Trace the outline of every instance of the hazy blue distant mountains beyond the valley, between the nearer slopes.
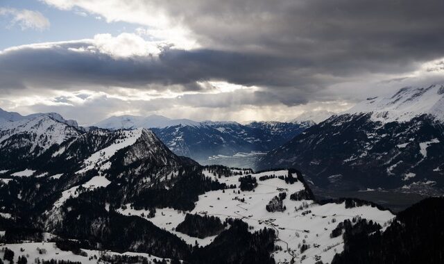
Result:
{"label": "hazy blue distant mountains beyond the valley, between the nearer slopes", "polygon": [[198,163],[231,167],[253,167],[267,151],[287,142],[311,126],[312,122],[195,122],[148,117],[110,117],[93,126],[102,129],[150,128],[169,149]]}

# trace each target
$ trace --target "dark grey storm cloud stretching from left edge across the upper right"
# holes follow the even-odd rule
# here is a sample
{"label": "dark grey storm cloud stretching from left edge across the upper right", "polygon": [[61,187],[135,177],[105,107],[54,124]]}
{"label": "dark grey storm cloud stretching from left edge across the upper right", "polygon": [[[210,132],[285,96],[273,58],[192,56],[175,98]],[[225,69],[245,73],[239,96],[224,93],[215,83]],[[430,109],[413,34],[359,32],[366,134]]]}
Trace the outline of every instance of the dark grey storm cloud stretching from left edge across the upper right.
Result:
{"label": "dark grey storm cloud stretching from left edge across the upper right", "polygon": [[[112,2],[103,10],[112,8]],[[157,90],[178,85],[198,91],[205,87],[196,82],[220,80],[264,88],[249,99],[251,104],[264,104],[266,98],[294,106],[336,99],[334,92],[318,95],[330,85],[372,80],[372,74],[402,76],[444,57],[442,0],[129,3],[147,15],[162,10],[173,23],[189,28],[203,48],[164,49],[158,57],[132,58],[69,49],[90,44],[82,42],[21,48],[0,54],[0,89],[156,84]]]}

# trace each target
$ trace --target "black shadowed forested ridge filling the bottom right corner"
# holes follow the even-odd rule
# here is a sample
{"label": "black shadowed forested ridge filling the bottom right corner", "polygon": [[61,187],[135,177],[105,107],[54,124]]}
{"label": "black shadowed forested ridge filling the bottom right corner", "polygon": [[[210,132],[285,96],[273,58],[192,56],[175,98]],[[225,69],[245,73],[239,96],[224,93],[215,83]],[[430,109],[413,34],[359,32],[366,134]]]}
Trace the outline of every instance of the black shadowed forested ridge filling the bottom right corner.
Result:
{"label": "black shadowed forested ridge filling the bottom right corner", "polygon": [[[444,263],[444,198],[431,197],[402,211],[386,231],[366,226],[344,234],[344,251],[332,264]],[[359,226],[358,226],[359,227]]]}

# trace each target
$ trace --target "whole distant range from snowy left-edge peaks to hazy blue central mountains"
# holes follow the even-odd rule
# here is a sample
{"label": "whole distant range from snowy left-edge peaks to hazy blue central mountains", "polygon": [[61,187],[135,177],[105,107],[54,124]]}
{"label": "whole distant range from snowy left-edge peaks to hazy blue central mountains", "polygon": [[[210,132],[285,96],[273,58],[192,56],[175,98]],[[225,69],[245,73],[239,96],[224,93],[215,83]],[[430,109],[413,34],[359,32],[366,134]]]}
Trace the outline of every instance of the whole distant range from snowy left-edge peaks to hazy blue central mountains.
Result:
{"label": "whole distant range from snowy left-edge peaks to hazy blue central mountains", "polygon": [[[316,118],[324,116],[325,113],[320,112],[320,116]],[[1,155],[6,160],[10,160],[9,156],[25,157],[31,152],[38,154],[39,150],[33,150],[35,148],[44,150],[45,147],[40,146],[42,140],[49,140],[46,144],[46,148],[49,148],[51,145],[60,144],[78,133],[89,130],[115,131],[145,128],[151,129],[175,154],[193,158],[200,164],[254,167],[257,158],[284,144],[313,124],[315,123],[311,119],[239,124],[238,122],[169,119],[160,115],[148,117],[125,115],[110,117],[92,126],[82,127],[78,126],[76,121],[64,119],[57,113],[22,116],[19,113],[0,110],[0,149],[4,149]],[[62,129],[67,129],[67,131],[60,131]],[[26,138],[28,141],[33,141],[33,145],[30,142],[18,144],[17,140],[23,141]],[[25,147],[26,145],[28,147]],[[17,159],[17,162],[20,160]]]}

